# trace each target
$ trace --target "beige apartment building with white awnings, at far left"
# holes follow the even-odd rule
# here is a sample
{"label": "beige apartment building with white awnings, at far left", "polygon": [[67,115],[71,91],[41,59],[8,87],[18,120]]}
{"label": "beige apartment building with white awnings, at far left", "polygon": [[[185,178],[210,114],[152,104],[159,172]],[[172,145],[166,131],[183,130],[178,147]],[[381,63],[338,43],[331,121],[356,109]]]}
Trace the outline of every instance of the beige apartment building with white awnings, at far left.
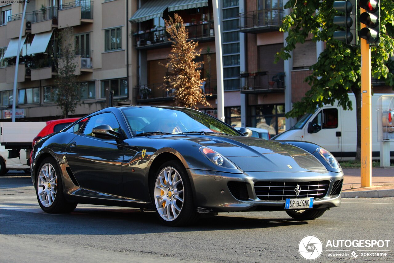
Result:
{"label": "beige apartment building with white awnings, at far left", "polygon": [[[106,106],[105,90],[114,92],[115,104],[131,103],[135,85],[136,50],[131,49],[128,17],[136,1],[30,0],[22,21],[23,4],[0,6],[0,111],[10,118],[16,56],[20,54],[17,79],[17,114],[24,120],[59,118],[56,107],[52,59],[58,52],[59,30],[72,28],[80,84],[75,116]],[[18,51],[20,26],[22,45]]]}

